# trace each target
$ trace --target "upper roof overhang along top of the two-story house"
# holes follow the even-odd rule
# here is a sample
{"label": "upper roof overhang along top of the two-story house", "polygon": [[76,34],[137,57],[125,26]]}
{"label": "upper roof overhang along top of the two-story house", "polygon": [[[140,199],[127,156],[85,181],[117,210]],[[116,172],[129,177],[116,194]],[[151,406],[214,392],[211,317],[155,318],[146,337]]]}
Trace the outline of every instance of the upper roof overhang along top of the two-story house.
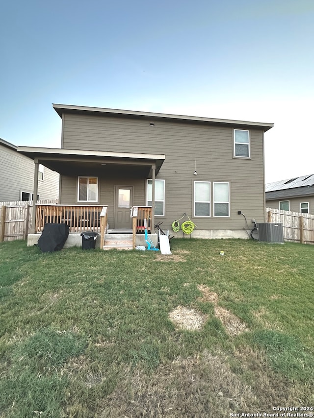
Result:
{"label": "upper roof overhang along top of the two-story house", "polygon": [[62,118],[63,113],[75,113],[75,114],[89,114],[89,115],[103,115],[103,116],[117,116],[117,117],[129,117],[136,119],[149,119],[149,120],[172,120],[186,123],[202,123],[209,125],[224,125],[233,127],[247,127],[247,128],[259,128],[264,132],[274,126],[273,123],[262,122],[247,122],[236,121],[231,119],[214,119],[205,118],[200,116],[186,116],[186,115],[173,115],[167,113],[153,113],[153,112],[141,112],[134,110],[121,110],[121,109],[108,109],[103,107],[90,107],[90,106],[74,106],[70,104],[52,104],[53,109]]}

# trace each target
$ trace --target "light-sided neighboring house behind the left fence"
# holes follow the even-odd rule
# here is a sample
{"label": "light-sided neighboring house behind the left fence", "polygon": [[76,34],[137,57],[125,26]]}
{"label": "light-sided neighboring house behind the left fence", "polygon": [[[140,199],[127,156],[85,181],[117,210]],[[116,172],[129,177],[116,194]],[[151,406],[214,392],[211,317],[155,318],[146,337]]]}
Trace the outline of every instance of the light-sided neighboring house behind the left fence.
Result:
{"label": "light-sided neighboring house behind the left fence", "polygon": [[[32,200],[34,161],[17,152],[17,147],[0,139],[0,202]],[[57,199],[59,174],[39,166],[38,199]]]}

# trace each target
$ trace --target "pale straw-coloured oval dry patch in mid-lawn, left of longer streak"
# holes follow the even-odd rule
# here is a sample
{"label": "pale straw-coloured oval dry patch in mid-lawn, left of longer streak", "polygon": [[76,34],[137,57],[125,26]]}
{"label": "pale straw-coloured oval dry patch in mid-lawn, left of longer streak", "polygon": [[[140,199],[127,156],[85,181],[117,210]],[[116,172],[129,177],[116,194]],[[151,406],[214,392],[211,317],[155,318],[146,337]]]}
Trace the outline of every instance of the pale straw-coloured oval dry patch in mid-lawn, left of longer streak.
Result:
{"label": "pale straw-coloured oval dry patch in mid-lawn, left of longer streak", "polygon": [[195,309],[188,309],[179,305],[170,312],[169,318],[177,328],[196,331],[203,327],[207,315],[201,315]]}

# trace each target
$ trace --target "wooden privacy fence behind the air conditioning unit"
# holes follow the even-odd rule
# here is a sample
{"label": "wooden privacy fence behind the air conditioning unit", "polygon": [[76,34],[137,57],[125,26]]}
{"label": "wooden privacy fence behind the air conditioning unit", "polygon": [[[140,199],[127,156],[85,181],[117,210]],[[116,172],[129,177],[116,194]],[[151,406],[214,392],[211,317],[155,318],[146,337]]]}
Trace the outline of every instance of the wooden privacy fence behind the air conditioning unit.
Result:
{"label": "wooden privacy fence behind the air conditioning unit", "polygon": [[314,244],[314,215],[266,208],[267,222],[281,222],[284,229],[284,240]]}

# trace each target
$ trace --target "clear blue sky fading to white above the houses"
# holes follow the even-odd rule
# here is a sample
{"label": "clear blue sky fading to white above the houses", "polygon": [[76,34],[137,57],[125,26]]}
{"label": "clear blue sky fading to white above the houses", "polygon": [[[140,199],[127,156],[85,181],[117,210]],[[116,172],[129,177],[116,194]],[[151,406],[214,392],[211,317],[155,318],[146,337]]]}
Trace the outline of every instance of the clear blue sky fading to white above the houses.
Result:
{"label": "clear blue sky fading to white above the houses", "polygon": [[314,172],[314,0],[12,0],[0,137],[60,147],[52,103],[272,122],[266,182]]}

